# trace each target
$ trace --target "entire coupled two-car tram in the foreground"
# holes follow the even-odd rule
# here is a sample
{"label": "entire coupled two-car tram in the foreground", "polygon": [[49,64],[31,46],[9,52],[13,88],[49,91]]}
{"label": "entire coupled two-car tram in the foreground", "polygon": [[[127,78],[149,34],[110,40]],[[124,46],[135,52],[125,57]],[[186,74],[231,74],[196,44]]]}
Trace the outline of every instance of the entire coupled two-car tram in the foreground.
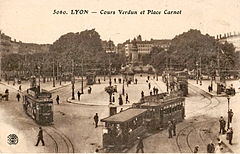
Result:
{"label": "entire coupled two-car tram in the foreground", "polygon": [[131,146],[138,136],[162,130],[168,121],[181,122],[184,118],[184,97],[168,93],[145,96],[131,108],[101,120],[105,122],[103,147],[123,149]]}

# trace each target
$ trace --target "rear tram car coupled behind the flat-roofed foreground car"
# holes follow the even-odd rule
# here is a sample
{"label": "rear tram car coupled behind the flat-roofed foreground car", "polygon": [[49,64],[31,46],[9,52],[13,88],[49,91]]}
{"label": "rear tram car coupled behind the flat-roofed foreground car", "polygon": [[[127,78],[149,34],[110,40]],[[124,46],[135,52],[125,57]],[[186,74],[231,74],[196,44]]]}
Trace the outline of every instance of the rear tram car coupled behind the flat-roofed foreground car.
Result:
{"label": "rear tram car coupled behind the flat-roofed foreground car", "polygon": [[146,121],[150,131],[164,129],[168,121],[175,119],[176,122],[181,122],[185,117],[185,98],[178,95],[162,93],[146,96],[133,107],[148,109]]}

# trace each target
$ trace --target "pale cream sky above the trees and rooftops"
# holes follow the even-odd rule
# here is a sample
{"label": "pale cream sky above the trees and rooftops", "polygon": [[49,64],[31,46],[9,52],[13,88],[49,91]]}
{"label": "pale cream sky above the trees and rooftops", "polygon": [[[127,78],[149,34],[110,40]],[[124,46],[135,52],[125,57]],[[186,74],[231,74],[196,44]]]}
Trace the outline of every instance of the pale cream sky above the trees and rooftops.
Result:
{"label": "pale cream sky above the trees and rooftops", "polygon": [[[71,14],[75,9],[89,14]],[[56,15],[54,10],[68,14]],[[101,10],[115,14],[100,14]],[[122,15],[118,10],[138,14]],[[142,10],[161,14],[140,15]],[[181,10],[181,14],[166,15],[164,10]],[[240,0],[0,0],[0,30],[17,41],[53,43],[68,32],[93,28],[101,39],[115,44],[139,34],[143,40],[172,39],[189,29],[212,36],[240,32]]]}

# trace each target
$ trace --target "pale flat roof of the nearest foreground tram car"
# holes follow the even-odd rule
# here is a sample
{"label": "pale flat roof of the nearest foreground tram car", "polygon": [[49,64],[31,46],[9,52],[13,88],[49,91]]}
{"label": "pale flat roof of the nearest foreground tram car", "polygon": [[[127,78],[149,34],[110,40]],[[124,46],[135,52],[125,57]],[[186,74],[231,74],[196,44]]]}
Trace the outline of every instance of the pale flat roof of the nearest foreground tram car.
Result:
{"label": "pale flat roof of the nearest foreground tram car", "polygon": [[104,118],[101,121],[102,122],[111,122],[111,123],[123,123],[123,122],[127,122],[127,121],[135,118],[136,116],[143,114],[146,111],[147,111],[147,109],[131,108],[131,109],[127,109],[125,111],[119,112],[113,116]]}

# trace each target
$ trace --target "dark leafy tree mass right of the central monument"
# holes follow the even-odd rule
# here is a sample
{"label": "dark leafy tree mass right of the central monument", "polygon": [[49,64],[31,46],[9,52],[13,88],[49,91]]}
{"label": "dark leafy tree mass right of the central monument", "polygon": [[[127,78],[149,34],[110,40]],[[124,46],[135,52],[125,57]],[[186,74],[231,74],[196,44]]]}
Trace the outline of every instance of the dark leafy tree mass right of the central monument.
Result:
{"label": "dark leafy tree mass right of the central monument", "polygon": [[214,37],[192,29],[172,39],[168,50],[152,48],[150,55],[143,57],[143,62],[150,63],[160,72],[170,67],[193,70],[200,63],[206,73],[218,67],[234,70],[240,66],[239,52],[235,52],[233,44],[220,43]]}

